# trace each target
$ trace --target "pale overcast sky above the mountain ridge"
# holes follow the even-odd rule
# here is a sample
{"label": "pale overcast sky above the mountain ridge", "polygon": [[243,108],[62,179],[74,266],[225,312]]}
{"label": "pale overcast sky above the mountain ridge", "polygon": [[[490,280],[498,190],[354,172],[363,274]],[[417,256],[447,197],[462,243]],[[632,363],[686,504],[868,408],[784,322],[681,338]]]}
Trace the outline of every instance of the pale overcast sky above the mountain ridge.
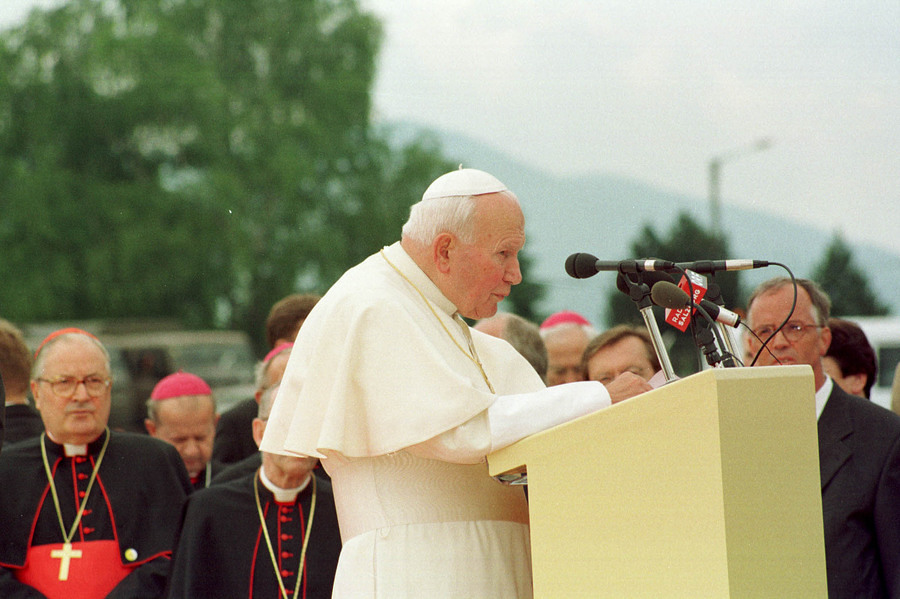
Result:
{"label": "pale overcast sky above the mountain ridge", "polygon": [[[52,3],[0,0],[0,26]],[[752,206],[900,253],[897,0],[361,4],[385,25],[379,120],[698,201],[710,159],[729,155],[726,210]],[[769,149],[743,151],[762,138]]]}

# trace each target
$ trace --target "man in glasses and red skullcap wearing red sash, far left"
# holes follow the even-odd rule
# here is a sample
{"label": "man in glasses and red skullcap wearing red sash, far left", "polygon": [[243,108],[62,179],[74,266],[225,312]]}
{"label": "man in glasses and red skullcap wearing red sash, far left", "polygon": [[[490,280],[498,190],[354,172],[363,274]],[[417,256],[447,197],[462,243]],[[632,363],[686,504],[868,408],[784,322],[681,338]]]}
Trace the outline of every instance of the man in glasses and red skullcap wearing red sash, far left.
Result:
{"label": "man in glasses and red skullcap wearing red sash, far left", "polygon": [[160,597],[190,492],[174,447],[110,432],[109,354],[79,329],[35,354],[44,433],[0,455],[0,597]]}

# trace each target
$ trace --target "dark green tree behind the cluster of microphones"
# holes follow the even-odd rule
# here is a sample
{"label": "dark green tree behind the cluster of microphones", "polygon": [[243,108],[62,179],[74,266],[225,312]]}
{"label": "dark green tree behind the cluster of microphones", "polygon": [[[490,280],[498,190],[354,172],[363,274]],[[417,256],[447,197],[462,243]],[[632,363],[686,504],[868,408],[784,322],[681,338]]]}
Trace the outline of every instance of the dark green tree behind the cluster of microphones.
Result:
{"label": "dark green tree behind the cluster of microphones", "polygon": [[[717,259],[728,255],[728,242],[705,229],[688,213],[678,215],[672,228],[665,236],[657,233],[649,225],[645,226],[631,245],[632,255],[639,258],[655,258],[673,262],[691,262],[695,260]],[[675,278],[675,282],[677,282]],[[717,273],[707,279],[709,284],[715,283],[721,290],[726,305],[737,305],[740,297],[740,280],[738,273]],[[634,302],[624,293],[615,291],[607,298],[607,326],[631,323],[644,325],[641,313],[635,309]],[[654,314],[660,332],[669,347],[672,366],[680,375],[690,374],[698,368],[696,345],[688,333],[682,334],[677,329],[663,322],[664,311],[654,307]]]}

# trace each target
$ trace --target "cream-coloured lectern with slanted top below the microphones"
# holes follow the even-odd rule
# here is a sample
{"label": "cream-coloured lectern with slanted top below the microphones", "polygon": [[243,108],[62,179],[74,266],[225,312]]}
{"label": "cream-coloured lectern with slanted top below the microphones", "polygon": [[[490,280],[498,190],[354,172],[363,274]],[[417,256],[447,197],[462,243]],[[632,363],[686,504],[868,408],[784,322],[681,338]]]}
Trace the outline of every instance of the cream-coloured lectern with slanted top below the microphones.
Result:
{"label": "cream-coloured lectern with slanted top below the microphones", "polygon": [[711,369],[488,456],[535,597],[827,597],[812,370]]}

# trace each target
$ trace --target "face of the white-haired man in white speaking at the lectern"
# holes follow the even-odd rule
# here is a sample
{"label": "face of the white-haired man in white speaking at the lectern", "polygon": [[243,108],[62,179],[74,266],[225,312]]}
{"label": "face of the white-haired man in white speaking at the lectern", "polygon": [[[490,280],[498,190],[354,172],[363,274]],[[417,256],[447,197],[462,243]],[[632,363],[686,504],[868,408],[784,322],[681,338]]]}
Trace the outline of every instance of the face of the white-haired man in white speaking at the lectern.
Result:
{"label": "face of the white-haired man in white speaking at the lectern", "polygon": [[451,254],[447,297],[467,318],[487,318],[522,281],[518,254],[525,245],[525,217],[519,203],[505,194],[478,196],[475,243],[456,240]]}

